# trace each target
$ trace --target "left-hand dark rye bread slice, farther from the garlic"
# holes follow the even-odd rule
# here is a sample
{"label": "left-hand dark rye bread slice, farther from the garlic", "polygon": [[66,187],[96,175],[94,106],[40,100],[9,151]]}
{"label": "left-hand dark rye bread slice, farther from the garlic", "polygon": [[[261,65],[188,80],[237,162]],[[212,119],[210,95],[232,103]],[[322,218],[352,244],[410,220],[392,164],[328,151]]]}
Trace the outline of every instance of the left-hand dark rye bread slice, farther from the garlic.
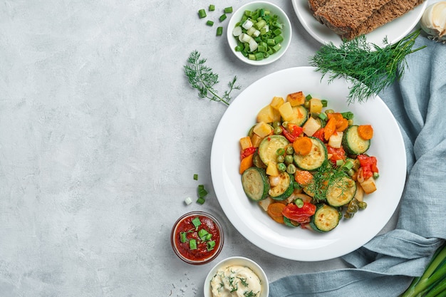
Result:
{"label": "left-hand dark rye bread slice, farther from the garlic", "polygon": [[330,0],[315,12],[322,24],[343,36],[356,30],[390,0]]}

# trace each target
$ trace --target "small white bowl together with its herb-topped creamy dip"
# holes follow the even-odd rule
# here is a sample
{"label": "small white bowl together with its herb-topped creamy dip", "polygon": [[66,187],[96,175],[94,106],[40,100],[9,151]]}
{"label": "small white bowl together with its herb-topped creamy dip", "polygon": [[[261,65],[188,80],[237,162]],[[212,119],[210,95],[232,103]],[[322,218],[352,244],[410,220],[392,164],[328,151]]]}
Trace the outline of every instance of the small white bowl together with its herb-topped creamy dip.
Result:
{"label": "small white bowl together with its herb-topped creamy dip", "polygon": [[234,256],[220,261],[207,273],[204,297],[239,296],[268,297],[269,283],[259,264]]}

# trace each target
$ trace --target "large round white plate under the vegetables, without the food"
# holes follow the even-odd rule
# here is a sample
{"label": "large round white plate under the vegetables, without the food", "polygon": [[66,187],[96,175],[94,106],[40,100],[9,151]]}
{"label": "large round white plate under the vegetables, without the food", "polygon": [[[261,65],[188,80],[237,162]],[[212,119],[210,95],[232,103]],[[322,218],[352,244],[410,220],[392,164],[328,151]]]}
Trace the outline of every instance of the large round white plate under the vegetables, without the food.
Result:
{"label": "large round white plate under the vegetables, without the food", "polygon": [[[252,244],[271,254],[298,261],[321,261],[343,256],[363,246],[383,229],[400,201],[406,176],[403,137],[398,123],[378,96],[348,105],[350,84],[345,79],[321,80],[313,67],[288,68],[257,80],[242,91],[222,116],[214,135],[211,173],[217,199],[234,227]],[[328,108],[351,111],[355,123],[373,125],[368,150],[378,159],[378,189],[365,198],[368,207],[351,220],[343,219],[327,233],[290,228],[274,222],[244,194],[239,174],[241,137],[255,124],[261,108],[274,96],[304,94],[328,100]]]}

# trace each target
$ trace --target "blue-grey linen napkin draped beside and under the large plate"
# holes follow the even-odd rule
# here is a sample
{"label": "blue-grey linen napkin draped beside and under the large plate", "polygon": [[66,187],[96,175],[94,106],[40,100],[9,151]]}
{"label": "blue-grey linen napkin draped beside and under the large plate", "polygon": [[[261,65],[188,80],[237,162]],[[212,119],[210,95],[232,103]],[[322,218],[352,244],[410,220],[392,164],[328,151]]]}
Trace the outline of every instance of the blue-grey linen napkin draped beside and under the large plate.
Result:
{"label": "blue-grey linen napkin draped beside and under the large plate", "polygon": [[343,256],[351,269],[286,276],[270,284],[269,297],[399,296],[446,239],[446,44],[419,36],[413,48],[422,45],[403,78],[379,94],[408,157],[395,230]]}

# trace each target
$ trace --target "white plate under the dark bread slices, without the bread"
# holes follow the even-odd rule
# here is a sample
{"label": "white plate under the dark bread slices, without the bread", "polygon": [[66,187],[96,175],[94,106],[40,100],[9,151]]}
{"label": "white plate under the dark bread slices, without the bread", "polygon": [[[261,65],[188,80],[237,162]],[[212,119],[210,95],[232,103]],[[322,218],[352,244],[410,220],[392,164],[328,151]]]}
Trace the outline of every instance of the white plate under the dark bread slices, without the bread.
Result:
{"label": "white plate under the dark bread slices, without the bread", "polygon": [[[311,14],[306,0],[291,0],[293,2],[294,11],[297,18],[301,22],[306,31],[322,44],[333,42],[335,46],[342,43],[341,37],[331,31],[327,26],[319,23]],[[367,41],[375,43],[378,46],[384,46],[383,39],[387,36],[388,42],[393,44],[400,41],[401,38],[408,35],[410,31],[418,24],[422,13],[425,11],[427,1],[415,7],[407,14],[400,16],[398,19],[388,24],[376,28],[374,31],[365,34]]]}

